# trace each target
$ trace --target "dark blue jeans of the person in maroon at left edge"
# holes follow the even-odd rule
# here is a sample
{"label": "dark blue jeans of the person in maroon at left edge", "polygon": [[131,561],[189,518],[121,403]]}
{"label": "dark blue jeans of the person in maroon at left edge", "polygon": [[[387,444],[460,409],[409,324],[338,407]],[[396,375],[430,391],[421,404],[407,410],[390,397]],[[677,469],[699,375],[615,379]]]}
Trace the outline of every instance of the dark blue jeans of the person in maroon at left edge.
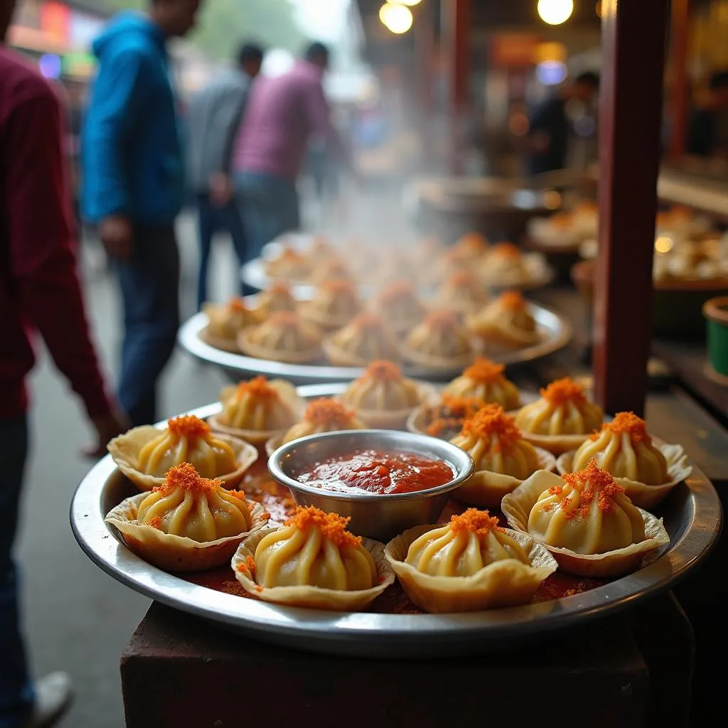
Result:
{"label": "dark blue jeans of the person in maroon at left edge", "polygon": [[18,569],[12,560],[27,454],[25,415],[0,419],[0,513],[4,521],[0,529],[0,728],[22,725],[34,698],[20,636]]}

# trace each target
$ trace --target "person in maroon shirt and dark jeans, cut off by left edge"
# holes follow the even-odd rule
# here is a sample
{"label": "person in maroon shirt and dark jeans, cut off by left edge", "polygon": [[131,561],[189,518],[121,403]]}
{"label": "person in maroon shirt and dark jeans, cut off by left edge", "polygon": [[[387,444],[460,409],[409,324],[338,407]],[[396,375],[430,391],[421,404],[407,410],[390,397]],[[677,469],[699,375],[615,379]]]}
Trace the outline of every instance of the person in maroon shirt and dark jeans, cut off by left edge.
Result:
{"label": "person in maroon shirt and dark jeans, cut off by left edge", "polygon": [[28,452],[25,376],[31,331],[81,397],[100,456],[124,430],[89,338],[61,151],[61,110],[50,86],[2,41],[15,0],[0,0],[0,728],[52,724],[70,697],[65,673],[33,683],[20,636],[12,547]]}

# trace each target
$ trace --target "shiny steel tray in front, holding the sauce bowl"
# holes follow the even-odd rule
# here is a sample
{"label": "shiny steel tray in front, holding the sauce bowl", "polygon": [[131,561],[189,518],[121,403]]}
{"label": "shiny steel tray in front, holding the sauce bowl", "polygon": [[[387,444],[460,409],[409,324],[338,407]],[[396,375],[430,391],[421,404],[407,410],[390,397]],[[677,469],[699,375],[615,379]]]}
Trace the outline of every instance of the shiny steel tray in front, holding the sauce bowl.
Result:
{"label": "shiny steel tray in front, holding the sauce bowl", "polygon": [[[331,387],[301,387],[304,396],[331,394]],[[194,411],[207,417],[220,410]],[[71,528],[87,556],[103,571],[164,604],[265,641],[312,652],[369,657],[449,657],[504,649],[626,609],[670,589],[711,550],[721,529],[721,505],[700,470],[678,486],[658,515],[670,544],[656,560],[622,579],[553,601],[467,614],[338,614],[275,606],[240,598],[167,574],[116,540],[104,515],[134,488],[101,460],[79,485],[71,504]]]}

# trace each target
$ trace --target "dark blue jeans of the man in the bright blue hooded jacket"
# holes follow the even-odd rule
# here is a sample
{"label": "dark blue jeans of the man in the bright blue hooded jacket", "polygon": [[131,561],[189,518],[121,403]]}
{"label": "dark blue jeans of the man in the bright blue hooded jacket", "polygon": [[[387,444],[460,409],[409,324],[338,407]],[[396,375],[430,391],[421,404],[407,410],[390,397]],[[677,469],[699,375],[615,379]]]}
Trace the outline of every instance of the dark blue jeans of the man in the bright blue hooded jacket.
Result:
{"label": "dark blue jeans of the man in the bright blue hooded jacket", "polygon": [[157,379],[180,322],[180,259],[172,225],[138,225],[132,259],[116,264],[124,301],[119,404],[132,424],[157,422]]}

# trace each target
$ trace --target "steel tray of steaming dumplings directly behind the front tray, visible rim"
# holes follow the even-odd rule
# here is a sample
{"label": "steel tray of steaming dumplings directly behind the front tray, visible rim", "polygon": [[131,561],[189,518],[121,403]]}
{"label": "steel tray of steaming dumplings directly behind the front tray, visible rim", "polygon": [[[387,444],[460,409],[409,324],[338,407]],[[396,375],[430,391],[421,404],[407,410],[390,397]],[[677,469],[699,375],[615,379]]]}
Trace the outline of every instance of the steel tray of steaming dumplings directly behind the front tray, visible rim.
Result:
{"label": "steel tray of steaming dumplings directly behind the front tray, visible rim", "polygon": [[[545,339],[533,347],[494,355],[495,360],[503,364],[526,363],[558,352],[571,341],[571,324],[565,318],[545,306],[534,303],[529,306],[539,328],[545,333]],[[351,381],[364,373],[364,370],[358,367],[339,367],[328,364],[284,364],[215,349],[200,338],[200,333],[205,326],[207,326],[207,316],[203,313],[195,314],[186,321],[178,334],[181,347],[196,359],[221,367],[234,379],[251,374],[265,374],[266,376],[285,377],[294,384],[313,384],[314,382],[323,384],[332,381]],[[414,379],[448,381],[458,376],[460,370],[432,370],[405,366],[403,372],[405,376]]]}

